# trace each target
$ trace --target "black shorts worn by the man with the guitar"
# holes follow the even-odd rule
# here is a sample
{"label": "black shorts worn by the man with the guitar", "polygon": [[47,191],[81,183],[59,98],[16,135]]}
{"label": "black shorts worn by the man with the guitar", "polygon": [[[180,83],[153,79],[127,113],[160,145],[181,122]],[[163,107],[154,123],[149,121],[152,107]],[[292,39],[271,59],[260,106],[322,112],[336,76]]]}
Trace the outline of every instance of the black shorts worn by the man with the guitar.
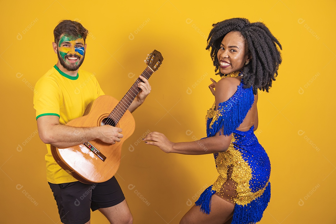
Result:
{"label": "black shorts worn by the man with the guitar", "polygon": [[[48,182],[49,183],[49,182]],[[102,183],[83,184],[79,181],[49,186],[65,224],[84,224],[90,220],[90,208],[95,211],[118,205],[125,196],[115,177]]]}

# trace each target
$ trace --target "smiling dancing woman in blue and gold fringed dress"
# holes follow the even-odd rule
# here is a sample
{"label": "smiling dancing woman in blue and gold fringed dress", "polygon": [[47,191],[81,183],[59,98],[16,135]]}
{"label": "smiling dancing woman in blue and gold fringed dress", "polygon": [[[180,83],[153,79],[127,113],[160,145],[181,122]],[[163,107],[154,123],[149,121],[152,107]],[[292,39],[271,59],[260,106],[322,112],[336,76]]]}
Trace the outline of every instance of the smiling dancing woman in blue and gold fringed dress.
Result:
{"label": "smiling dancing woman in blue and gold fringed dress", "polygon": [[270,162],[253,132],[258,127],[257,90],[268,92],[278,75],[276,44],[282,49],[259,22],[233,18],[214,24],[206,49],[221,79],[211,79],[209,86],[215,102],[206,116],[207,137],[174,143],[151,132],[143,139],[167,153],[214,153],[218,179],[180,223],[242,224],[262,218],[270,199]]}

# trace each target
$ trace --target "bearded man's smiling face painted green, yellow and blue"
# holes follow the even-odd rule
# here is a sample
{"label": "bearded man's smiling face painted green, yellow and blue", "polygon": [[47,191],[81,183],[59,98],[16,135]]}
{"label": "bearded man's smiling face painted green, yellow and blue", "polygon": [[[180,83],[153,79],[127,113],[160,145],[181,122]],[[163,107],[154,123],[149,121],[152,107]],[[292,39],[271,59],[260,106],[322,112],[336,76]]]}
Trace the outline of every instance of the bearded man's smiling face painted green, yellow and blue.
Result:
{"label": "bearded man's smiling face painted green, yellow and blue", "polygon": [[85,56],[84,39],[62,35],[58,42],[58,59],[60,64],[69,71],[76,71],[83,63]]}

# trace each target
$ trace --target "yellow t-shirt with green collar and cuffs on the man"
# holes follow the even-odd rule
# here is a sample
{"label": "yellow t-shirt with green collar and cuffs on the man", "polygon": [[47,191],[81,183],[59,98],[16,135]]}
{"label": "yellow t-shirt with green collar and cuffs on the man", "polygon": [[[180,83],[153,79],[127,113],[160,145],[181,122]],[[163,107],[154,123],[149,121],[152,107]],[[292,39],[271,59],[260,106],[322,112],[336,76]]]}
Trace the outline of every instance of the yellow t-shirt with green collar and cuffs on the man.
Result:
{"label": "yellow t-shirt with green collar and cuffs on the man", "polygon": [[[76,77],[60,71],[55,65],[35,85],[34,108],[36,120],[45,115],[59,117],[59,123],[82,117],[86,106],[98,96],[104,95],[94,74],[79,70]],[[62,169],[50,151],[45,155],[47,180],[50,183],[60,184],[77,181]]]}

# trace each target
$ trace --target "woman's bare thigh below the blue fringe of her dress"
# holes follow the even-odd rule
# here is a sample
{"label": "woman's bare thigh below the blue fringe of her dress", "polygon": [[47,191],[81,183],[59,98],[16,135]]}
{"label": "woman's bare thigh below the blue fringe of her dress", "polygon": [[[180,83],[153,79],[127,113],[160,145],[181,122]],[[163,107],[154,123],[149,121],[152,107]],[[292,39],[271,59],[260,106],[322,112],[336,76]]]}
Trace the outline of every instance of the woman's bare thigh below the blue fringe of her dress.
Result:
{"label": "woman's bare thigh below the blue fringe of her dress", "polygon": [[216,194],[211,198],[211,212],[205,214],[199,206],[193,206],[181,219],[180,224],[224,224],[233,216],[235,205],[229,203]]}

